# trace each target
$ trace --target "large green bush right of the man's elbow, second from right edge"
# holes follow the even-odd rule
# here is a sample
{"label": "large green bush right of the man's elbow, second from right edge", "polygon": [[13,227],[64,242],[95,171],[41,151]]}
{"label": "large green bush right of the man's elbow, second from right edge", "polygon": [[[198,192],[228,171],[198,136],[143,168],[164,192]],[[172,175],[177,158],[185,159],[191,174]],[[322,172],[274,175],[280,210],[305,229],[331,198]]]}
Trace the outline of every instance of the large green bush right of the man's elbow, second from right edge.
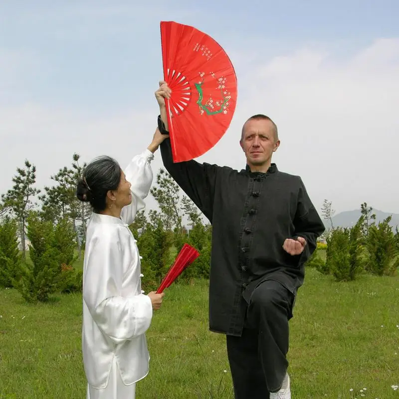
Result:
{"label": "large green bush right of the man's elbow, second from right edge", "polygon": [[336,228],[327,242],[326,267],[336,281],[353,281],[362,270],[361,225],[352,228]]}

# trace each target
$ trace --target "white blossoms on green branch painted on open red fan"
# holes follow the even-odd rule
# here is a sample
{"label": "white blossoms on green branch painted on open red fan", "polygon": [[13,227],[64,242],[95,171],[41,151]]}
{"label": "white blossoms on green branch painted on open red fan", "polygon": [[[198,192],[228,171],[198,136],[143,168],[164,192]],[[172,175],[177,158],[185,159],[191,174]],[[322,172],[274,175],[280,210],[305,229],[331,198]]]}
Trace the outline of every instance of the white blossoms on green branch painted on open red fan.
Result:
{"label": "white blossoms on green branch painted on open red fan", "polygon": [[[220,76],[216,78],[216,74],[210,72],[209,75],[217,81],[216,89],[220,91],[220,98],[213,99],[211,95],[208,98],[204,99],[204,93],[202,90],[202,84],[204,81],[205,72],[199,72],[201,80],[195,84],[196,89],[198,91],[198,101],[197,104],[200,106],[200,114],[203,115],[215,115],[215,114],[227,114],[228,107],[230,105],[229,100],[231,99],[230,92],[226,89],[226,78]],[[205,100],[205,102],[204,102]]]}

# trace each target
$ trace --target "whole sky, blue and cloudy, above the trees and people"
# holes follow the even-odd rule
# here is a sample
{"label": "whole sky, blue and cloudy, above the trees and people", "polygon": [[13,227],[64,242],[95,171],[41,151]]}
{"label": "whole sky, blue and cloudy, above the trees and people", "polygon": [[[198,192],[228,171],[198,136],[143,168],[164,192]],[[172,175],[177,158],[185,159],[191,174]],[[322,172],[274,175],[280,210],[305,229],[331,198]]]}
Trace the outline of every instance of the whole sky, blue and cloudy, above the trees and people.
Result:
{"label": "whole sky, blue and cloudy, above the trees and people", "polygon": [[43,188],[73,153],[123,167],[141,153],[159,113],[159,24],[174,20],[213,37],[237,75],[230,127],[199,162],[244,168],[242,124],[266,114],[273,162],[319,210],[399,213],[398,15],[396,0],[0,1],[0,193],[25,159]]}

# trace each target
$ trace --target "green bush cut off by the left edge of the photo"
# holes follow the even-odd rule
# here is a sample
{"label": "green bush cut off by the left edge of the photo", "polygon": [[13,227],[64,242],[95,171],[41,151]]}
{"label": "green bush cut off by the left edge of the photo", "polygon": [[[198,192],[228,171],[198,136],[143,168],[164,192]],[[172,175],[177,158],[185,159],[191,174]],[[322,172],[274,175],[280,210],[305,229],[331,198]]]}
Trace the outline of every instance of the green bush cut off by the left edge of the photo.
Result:
{"label": "green bush cut off by the left edge of the photo", "polygon": [[20,278],[20,262],[17,224],[15,220],[4,217],[0,223],[0,286],[14,286],[14,281]]}

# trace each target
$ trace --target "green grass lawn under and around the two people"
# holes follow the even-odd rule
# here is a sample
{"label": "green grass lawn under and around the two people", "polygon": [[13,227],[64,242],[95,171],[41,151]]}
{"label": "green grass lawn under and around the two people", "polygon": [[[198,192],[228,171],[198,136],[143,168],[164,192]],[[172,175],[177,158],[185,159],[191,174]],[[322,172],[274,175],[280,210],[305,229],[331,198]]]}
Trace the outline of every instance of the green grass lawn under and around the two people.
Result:
{"label": "green grass lawn under and around the two people", "polygon": [[[27,305],[0,290],[1,399],[85,398],[81,307],[81,295]],[[335,283],[308,269],[291,321],[293,398],[399,398],[397,325],[399,277]],[[233,398],[225,337],[207,327],[207,283],[170,287],[147,333],[150,374],[137,398]]]}

